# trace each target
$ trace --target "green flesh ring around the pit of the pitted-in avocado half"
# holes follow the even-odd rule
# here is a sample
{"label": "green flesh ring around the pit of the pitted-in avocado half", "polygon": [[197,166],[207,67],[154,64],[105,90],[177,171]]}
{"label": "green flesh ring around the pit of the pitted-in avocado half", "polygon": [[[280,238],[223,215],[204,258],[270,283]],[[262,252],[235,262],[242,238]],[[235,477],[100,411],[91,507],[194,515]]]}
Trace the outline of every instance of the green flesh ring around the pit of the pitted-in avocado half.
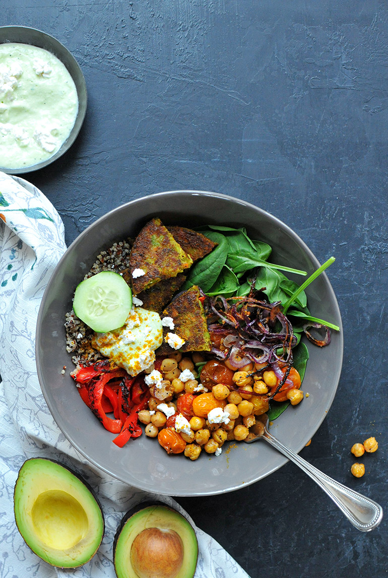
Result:
{"label": "green flesh ring around the pit of the pitted-in avocado half", "polygon": [[[183,560],[180,569],[172,573],[172,578],[192,578],[195,573],[198,558],[198,542],[191,524],[181,514],[167,506],[150,505],[143,507],[131,515],[127,514],[123,518],[116,533],[113,545],[114,569],[117,578],[139,578],[136,573],[131,558],[134,540],[141,532],[148,528],[176,532],[183,546]],[[133,554],[133,553],[132,553]],[[172,553],[167,551],[166,559],[172,558]],[[145,557],[150,557],[151,553],[146,552]],[[151,570],[151,573],[144,576],[150,578],[164,578],[160,570]],[[142,576],[141,576],[142,578]]]}

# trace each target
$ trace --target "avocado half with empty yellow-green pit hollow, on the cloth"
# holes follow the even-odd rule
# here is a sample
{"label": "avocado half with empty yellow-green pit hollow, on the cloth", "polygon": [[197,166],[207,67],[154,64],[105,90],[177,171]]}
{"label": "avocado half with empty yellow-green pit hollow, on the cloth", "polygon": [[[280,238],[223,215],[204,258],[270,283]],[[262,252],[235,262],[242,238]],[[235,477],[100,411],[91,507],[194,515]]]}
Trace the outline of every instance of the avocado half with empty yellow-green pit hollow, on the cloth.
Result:
{"label": "avocado half with empty yellow-green pit hollow, on the cloth", "polygon": [[70,470],[45,458],[21,466],[14,514],[27,545],[53,566],[85,564],[104,535],[104,517],[91,491]]}

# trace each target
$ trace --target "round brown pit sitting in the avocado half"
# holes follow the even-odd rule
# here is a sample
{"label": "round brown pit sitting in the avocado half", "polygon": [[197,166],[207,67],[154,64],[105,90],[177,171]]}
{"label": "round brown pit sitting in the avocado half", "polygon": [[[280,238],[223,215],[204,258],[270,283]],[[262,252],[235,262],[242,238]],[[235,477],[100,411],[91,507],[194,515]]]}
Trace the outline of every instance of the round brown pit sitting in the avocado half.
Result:
{"label": "round brown pit sitting in the avocado half", "polygon": [[139,578],[176,578],[183,562],[183,542],[172,529],[146,528],[131,546],[131,563]]}

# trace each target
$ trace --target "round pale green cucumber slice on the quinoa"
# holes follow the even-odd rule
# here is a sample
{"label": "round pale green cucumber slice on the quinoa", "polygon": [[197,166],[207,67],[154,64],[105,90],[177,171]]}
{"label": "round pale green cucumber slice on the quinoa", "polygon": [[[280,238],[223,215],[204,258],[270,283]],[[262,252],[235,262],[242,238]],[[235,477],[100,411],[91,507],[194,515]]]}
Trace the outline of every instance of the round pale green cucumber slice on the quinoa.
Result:
{"label": "round pale green cucumber slice on the quinoa", "polygon": [[113,271],[88,277],[75,290],[74,313],[98,333],[122,327],[131,307],[131,288]]}

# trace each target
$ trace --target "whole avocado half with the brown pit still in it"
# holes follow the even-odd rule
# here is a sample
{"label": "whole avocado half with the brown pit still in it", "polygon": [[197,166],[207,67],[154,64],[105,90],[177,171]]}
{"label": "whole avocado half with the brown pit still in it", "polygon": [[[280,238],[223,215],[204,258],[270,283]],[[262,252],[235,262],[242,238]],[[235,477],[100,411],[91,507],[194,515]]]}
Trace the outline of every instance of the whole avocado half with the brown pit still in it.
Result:
{"label": "whole avocado half with the brown pit still in it", "polygon": [[128,512],[113,543],[117,578],[193,578],[198,559],[194,528],[161,503]]}

